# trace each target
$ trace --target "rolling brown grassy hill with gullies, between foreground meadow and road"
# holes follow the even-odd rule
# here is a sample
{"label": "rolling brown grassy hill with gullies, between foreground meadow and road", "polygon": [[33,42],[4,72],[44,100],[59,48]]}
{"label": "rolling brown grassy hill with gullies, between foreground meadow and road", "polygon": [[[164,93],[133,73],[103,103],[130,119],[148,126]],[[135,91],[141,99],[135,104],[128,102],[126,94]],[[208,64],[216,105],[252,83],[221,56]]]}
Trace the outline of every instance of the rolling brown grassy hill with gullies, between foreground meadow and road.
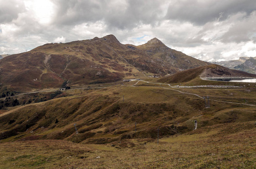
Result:
{"label": "rolling brown grassy hill with gullies, between foreground meadow and road", "polygon": [[[161,137],[186,133],[193,130],[194,119],[199,122],[198,127],[255,119],[255,108],[242,105],[245,100],[256,104],[254,90],[198,89],[191,92],[210,96],[211,108],[205,109],[204,100],[198,96],[162,87],[113,86],[66,91],[57,99],[2,110],[0,139],[14,141],[32,137],[110,143],[132,138],[156,139],[157,127],[160,127]],[[79,134],[75,133],[75,123]]]}

